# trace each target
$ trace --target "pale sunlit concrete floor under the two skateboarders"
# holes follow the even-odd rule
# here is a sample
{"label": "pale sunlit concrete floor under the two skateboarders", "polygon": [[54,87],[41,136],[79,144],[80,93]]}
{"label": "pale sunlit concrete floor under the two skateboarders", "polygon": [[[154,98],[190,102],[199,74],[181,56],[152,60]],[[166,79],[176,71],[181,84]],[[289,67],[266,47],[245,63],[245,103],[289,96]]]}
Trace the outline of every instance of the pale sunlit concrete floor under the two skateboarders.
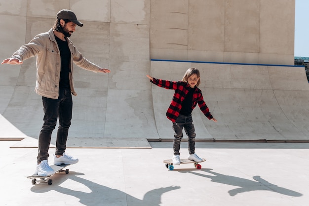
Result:
{"label": "pale sunlit concrete floor under the two skateboarders", "polygon": [[[1,206],[307,206],[309,144],[196,143],[202,168],[175,165],[171,142],[152,149],[70,148],[79,158],[53,184],[32,185],[36,148],[0,141]],[[182,143],[181,157],[187,157]],[[50,149],[52,156],[54,149]],[[5,158],[4,158],[5,157]],[[50,157],[49,163],[53,160]]]}

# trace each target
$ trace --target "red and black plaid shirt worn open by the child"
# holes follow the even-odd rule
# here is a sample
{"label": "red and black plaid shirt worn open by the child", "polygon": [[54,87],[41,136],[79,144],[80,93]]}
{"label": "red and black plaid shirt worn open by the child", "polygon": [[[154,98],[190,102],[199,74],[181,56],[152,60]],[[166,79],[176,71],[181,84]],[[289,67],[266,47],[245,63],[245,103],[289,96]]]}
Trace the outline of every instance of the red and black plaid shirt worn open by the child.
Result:
{"label": "red and black plaid shirt worn open by the child", "polygon": [[[150,81],[157,86],[166,88],[166,89],[174,89],[175,93],[171,104],[166,112],[166,117],[171,120],[173,123],[176,122],[177,117],[179,116],[181,110],[181,103],[185,99],[186,95],[189,92],[190,85],[187,82],[171,82],[166,80],[158,80],[153,78],[153,81]],[[209,112],[209,108],[207,107],[206,103],[204,102],[204,98],[202,95],[202,91],[195,86],[195,90],[193,92],[193,99],[192,99],[192,109],[195,108],[196,104],[203,114],[211,120],[213,117]]]}

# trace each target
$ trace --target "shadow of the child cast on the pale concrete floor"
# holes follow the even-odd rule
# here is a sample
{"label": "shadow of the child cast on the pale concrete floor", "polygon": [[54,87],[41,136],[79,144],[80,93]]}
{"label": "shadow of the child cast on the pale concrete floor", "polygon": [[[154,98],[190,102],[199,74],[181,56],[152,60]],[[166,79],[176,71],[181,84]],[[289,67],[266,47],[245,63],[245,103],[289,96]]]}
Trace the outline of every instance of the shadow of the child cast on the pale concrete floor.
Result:
{"label": "shadow of the child cast on the pale concrete floor", "polygon": [[178,171],[183,172],[183,173],[192,173],[194,175],[206,177],[206,178],[211,179],[212,182],[218,182],[221,184],[238,186],[239,188],[235,188],[229,191],[230,196],[235,196],[239,193],[258,191],[258,190],[269,190],[272,192],[276,192],[282,195],[288,195],[292,197],[300,197],[303,195],[293,190],[289,190],[289,189],[271,184],[270,182],[262,179],[260,176],[253,176],[253,179],[255,180],[253,181],[253,180],[244,179],[240,177],[220,174],[220,173],[211,171],[212,169],[201,169],[201,170],[211,173],[213,175],[200,174],[200,173],[196,173],[196,172],[188,171],[188,170],[178,170]]}

